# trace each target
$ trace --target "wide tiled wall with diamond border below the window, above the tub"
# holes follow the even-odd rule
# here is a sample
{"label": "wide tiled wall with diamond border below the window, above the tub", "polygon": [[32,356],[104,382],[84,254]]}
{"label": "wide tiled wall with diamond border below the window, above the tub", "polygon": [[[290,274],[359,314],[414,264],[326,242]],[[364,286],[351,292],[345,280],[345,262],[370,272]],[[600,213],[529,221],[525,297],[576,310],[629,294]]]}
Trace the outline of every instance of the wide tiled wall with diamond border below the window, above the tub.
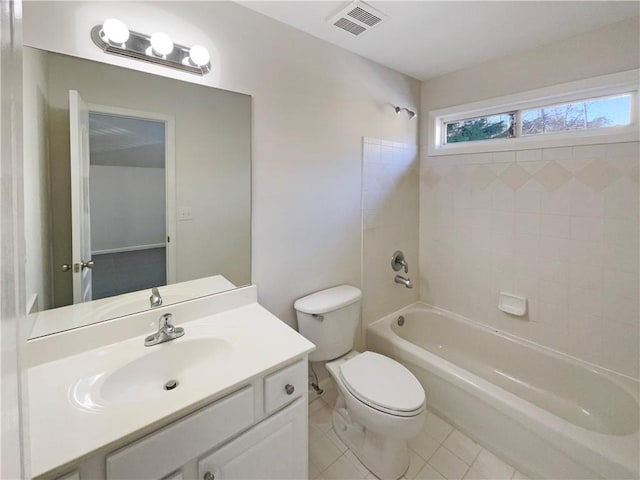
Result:
{"label": "wide tiled wall with diamond border below the window, above the tub", "polygon": [[[424,157],[421,298],[638,377],[638,142]],[[498,292],[529,314],[497,309]]]}

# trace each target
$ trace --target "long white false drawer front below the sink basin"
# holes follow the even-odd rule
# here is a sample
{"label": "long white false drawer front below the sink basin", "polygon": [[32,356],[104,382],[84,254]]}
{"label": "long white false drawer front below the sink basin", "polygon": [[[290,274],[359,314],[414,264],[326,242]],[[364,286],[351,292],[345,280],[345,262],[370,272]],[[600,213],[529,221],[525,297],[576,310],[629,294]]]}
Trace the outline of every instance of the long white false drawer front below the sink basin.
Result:
{"label": "long white false drawer front below the sink basin", "polygon": [[107,457],[107,479],[162,478],[250,427],[253,387],[246,387]]}

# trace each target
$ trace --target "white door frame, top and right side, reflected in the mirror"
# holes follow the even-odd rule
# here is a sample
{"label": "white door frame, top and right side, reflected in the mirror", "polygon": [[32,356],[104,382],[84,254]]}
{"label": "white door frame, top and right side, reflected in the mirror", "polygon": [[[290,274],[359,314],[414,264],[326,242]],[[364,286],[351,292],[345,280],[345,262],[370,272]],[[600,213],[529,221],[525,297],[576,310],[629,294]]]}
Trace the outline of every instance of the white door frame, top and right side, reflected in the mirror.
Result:
{"label": "white door frame, top and right side, reflected in the mirror", "polygon": [[175,118],[172,115],[130,108],[115,107],[88,103],[89,113],[102,113],[119,117],[129,117],[140,120],[151,120],[164,123],[165,144],[165,212],[166,237],[169,241],[167,248],[167,284],[177,281],[177,245],[176,245],[176,175],[175,175]]}

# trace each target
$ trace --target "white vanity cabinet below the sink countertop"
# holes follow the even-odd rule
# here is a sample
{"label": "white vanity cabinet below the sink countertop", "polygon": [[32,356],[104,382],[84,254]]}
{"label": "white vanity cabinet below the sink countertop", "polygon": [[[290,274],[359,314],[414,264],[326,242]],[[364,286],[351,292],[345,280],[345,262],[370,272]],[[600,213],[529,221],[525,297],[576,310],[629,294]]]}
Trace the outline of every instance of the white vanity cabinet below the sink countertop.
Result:
{"label": "white vanity cabinet below the sink countertop", "polygon": [[307,358],[65,475],[79,480],[300,479],[307,476]]}

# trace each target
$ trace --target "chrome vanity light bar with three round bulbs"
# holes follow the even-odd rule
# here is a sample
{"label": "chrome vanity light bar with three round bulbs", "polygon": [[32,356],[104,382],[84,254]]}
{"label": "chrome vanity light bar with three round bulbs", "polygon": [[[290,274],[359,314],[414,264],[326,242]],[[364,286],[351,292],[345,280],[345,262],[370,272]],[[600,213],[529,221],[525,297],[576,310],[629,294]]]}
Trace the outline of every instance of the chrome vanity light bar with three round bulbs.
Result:
{"label": "chrome vanity light bar with three round bulbs", "polygon": [[211,71],[211,57],[202,45],[189,48],[173,43],[166,33],[156,32],[149,36],[134,32],[116,18],[93,27],[91,39],[102,51],[112,55],[135,58],[196,75]]}

